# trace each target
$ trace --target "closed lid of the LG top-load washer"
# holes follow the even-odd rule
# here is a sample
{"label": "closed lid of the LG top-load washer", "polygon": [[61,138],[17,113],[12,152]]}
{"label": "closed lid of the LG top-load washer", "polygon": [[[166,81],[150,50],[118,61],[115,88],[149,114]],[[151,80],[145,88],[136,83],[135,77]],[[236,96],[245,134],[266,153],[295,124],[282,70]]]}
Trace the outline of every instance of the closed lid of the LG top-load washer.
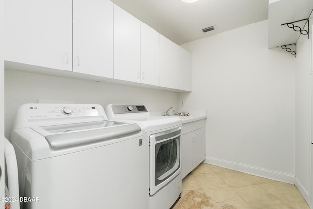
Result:
{"label": "closed lid of the LG top-load washer", "polygon": [[51,148],[116,139],[141,132],[135,123],[94,121],[51,126],[31,126],[32,130],[45,137]]}

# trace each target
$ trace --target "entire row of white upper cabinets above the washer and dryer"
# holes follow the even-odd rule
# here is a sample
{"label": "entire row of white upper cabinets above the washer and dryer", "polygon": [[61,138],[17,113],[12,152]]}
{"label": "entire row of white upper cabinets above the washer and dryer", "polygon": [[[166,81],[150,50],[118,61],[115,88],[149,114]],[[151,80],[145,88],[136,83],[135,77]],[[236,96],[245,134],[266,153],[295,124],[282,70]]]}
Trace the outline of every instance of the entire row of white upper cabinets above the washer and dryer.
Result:
{"label": "entire row of white upper cabinets above the washer and dryer", "polygon": [[110,0],[4,0],[7,70],[191,91],[191,56]]}

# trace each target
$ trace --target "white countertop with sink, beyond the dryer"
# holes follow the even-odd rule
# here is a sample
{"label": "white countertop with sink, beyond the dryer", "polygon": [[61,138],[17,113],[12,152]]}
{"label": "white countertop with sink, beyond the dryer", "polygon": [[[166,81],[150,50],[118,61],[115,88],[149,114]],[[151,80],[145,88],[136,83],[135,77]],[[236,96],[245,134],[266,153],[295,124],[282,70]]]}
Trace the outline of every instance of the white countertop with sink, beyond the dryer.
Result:
{"label": "white countertop with sink, beyond the dryer", "polygon": [[[180,112],[187,112],[189,113],[189,116],[175,116],[175,113],[180,113]],[[150,114],[151,115],[157,115],[157,116],[162,116],[164,113],[164,111],[151,111]],[[193,122],[193,121],[197,121],[197,120],[201,120],[201,119],[205,119],[206,118],[206,110],[200,110],[200,111],[175,111],[174,113],[172,111],[169,111],[169,114],[171,116],[164,116],[164,117],[179,117],[182,120],[182,123],[189,123],[189,122]]]}

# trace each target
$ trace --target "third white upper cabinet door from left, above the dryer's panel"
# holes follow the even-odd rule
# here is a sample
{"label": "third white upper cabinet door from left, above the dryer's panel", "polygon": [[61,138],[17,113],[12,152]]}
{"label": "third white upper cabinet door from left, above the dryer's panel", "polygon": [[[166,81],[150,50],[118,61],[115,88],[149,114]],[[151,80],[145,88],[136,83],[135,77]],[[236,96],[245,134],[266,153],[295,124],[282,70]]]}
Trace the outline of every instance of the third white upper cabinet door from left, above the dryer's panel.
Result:
{"label": "third white upper cabinet door from left, above the dryer's panel", "polygon": [[140,82],[140,21],[114,5],[114,78]]}

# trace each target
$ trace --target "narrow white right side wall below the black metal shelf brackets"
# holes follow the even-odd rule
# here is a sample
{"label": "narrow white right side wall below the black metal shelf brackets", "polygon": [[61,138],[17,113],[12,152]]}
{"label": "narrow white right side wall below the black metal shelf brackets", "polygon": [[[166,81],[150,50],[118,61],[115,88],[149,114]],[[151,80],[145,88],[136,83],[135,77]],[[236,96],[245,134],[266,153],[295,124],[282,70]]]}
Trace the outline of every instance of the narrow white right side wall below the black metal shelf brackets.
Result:
{"label": "narrow white right side wall below the black metal shelf brackets", "polygon": [[[313,18],[310,18],[312,28]],[[310,201],[310,169],[311,161],[311,108],[310,101],[310,62],[312,54],[310,52],[312,42],[312,31],[310,39],[306,35],[301,35],[297,42],[296,59],[296,100],[295,100],[295,184],[308,203]],[[312,196],[312,194],[311,194]],[[312,198],[312,197],[311,197]],[[311,206],[313,207],[313,206]]]}

